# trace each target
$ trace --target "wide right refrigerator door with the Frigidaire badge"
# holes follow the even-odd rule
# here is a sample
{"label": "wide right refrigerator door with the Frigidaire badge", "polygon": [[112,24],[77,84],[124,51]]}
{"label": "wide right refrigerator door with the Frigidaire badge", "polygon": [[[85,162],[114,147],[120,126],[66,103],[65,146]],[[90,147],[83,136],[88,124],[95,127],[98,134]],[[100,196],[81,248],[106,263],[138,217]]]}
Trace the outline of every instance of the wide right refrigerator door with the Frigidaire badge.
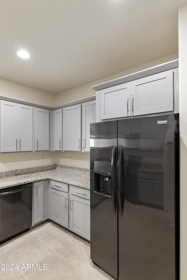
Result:
{"label": "wide right refrigerator door with the Frigidaire badge", "polygon": [[119,120],[120,146],[119,279],[174,280],[174,115]]}

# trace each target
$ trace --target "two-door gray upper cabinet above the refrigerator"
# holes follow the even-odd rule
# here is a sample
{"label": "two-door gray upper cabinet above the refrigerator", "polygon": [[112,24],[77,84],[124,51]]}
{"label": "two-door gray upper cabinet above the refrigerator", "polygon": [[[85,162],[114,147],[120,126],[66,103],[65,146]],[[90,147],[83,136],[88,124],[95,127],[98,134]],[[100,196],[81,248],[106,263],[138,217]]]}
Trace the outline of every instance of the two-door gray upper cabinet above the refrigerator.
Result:
{"label": "two-door gray upper cabinet above the refrigerator", "polygon": [[96,122],[169,111],[179,113],[178,107],[178,69],[96,92]]}

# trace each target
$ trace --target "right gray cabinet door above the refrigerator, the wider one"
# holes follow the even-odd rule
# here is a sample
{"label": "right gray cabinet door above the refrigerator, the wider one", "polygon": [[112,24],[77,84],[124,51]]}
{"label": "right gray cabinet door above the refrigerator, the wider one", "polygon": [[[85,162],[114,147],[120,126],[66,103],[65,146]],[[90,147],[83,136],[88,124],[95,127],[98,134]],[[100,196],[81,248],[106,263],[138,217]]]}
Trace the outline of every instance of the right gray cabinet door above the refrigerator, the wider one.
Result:
{"label": "right gray cabinet door above the refrigerator, the wider one", "polygon": [[131,115],[173,110],[173,70],[131,82]]}

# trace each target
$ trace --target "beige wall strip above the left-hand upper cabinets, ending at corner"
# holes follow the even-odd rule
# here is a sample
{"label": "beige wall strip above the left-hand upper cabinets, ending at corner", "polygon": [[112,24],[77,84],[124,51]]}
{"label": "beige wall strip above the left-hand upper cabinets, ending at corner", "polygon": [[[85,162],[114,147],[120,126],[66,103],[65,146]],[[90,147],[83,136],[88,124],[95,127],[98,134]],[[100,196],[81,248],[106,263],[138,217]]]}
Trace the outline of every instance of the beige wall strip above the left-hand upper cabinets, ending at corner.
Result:
{"label": "beige wall strip above the left-hand upper cabinets, ending at corner", "polygon": [[0,78],[0,95],[49,107],[53,107],[55,102],[55,96],[51,93],[30,88],[3,78]]}

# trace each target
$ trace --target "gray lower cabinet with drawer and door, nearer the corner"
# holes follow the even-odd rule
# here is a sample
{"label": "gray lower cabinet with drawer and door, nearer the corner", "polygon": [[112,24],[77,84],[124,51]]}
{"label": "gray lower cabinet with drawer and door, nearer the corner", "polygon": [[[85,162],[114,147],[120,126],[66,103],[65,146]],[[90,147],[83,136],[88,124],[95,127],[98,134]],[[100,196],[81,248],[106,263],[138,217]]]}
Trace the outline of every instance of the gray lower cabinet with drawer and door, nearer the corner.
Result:
{"label": "gray lower cabinet with drawer and door, nearer the corner", "polygon": [[68,228],[69,211],[68,211],[68,185],[56,181],[50,181],[49,183],[49,195],[50,195],[50,211],[49,218]]}

